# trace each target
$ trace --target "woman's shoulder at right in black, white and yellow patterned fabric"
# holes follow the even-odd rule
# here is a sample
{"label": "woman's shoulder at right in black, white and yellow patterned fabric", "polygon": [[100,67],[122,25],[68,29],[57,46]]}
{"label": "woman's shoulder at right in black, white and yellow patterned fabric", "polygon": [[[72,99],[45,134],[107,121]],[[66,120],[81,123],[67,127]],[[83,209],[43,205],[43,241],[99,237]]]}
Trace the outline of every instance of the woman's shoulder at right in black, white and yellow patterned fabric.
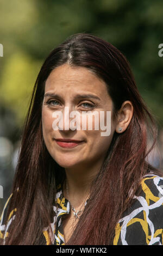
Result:
{"label": "woman's shoulder at right in black, white and yellow patterned fabric", "polygon": [[163,177],[143,177],[141,193],[117,224],[114,244],[163,244]]}

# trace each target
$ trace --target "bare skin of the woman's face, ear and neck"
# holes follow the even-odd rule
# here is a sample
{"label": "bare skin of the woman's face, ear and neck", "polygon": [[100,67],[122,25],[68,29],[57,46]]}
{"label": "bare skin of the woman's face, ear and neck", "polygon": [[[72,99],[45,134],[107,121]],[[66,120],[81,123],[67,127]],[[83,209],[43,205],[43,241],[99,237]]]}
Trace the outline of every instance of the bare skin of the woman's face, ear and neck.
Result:
{"label": "bare skin of the woman's face, ear and neck", "polygon": [[[89,194],[90,182],[99,172],[101,164],[108,150],[114,132],[124,132],[133,117],[133,105],[125,101],[115,121],[112,120],[113,102],[109,96],[106,84],[95,74],[83,67],[72,67],[64,64],[55,68],[48,76],[45,84],[45,94],[55,93],[60,99],[47,96],[42,103],[42,131],[43,138],[49,154],[62,167],[65,168],[68,195],[64,186],[64,196],[70,200],[75,209],[85,202]],[[75,99],[77,94],[93,94],[99,100]],[[52,100],[51,103],[47,103]],[[91,109],[91,105],[96,105]],[[54,111],[62,111],[65,107],[69,111],[111,111],[111,133],[109,136],[101,136],[101,130],[58,130],[54,131],[52,123]],[[70,118],[72,119],[72,118]],[[118,131],[121,127],[122,131]],[[61,148],[56,142],[57,138],[77,139],[83,141],[75,148]]]}

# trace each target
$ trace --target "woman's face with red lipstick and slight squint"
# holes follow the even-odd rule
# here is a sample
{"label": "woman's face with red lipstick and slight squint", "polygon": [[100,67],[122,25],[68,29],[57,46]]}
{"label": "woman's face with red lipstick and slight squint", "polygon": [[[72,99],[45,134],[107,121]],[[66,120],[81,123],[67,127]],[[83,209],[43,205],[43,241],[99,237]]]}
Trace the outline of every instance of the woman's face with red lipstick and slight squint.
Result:
{"label": "woman's face with red lipstick and slight squint", "polygon": [[[91,95],[94,97],[90,97]],[[49,154],[64,168],[89,166],[89,164],[97,161],[103,161],[115,131],[112,108],[112,100],[108,95],[104,81],[92,72],[83,67],[72,68],[68,64],[55,68],[47,78],[42,103],[42,131]],[[68,125],[66,130],[65,125],[63,125],[62,128],[60,127],[61,130],[54,130],[53,122],[58,117],[54,117],[54,114],[57,111],[63,114],[62,121],[66,125],[68,124],[66,123],[67,120],[71,123],[76,117],[67,115],[68,119],[66,119],[66,109],[69,113],[78,111],[80,119],[78,129],[71,130],[70,127],[72,126]],[[90,112],[87,113],[86,111]],[[102,118],[102,115],[100,111],[104,113],[105,125],[106,111],[111,111],[111,124],[110,119],[107,120],[111,127],[109,136],[101,135],[101,132],[106,132],[106,130],[101,130],[100,118]],[[96,113],[96,125],[99,124],[98,130],[95,130],[95,118],[93,117],[93,121],[90,119],[93,112]],[[85,120],[84,125],[86,125],[84,130],[82,128],[82,118],[85,118],[85,115],[86,119],[83,119]],[[92,123],[91,130],[88,129],[88,122]],[[76,124],[74,123],[74,125]],[[56,139],[72,139],[81,142],[78,144],[60,143]]]}

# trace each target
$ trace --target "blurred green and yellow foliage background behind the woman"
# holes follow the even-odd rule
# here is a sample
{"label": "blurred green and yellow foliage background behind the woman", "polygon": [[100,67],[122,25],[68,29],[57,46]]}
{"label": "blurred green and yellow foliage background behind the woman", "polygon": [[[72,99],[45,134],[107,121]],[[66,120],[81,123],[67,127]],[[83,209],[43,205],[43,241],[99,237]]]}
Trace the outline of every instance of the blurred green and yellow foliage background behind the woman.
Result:
{"label": "blurred green and yellow foliage background behind the woman", "polygon": [[[97,35],[127,57],[158,121],[163,151],[163,57],[158,54],[162,28],[161,0],[0,0],[0,213],[10,193],[36,76],[48,53],[72,34]],[[157,159],[153,164],[157,166]]]}

